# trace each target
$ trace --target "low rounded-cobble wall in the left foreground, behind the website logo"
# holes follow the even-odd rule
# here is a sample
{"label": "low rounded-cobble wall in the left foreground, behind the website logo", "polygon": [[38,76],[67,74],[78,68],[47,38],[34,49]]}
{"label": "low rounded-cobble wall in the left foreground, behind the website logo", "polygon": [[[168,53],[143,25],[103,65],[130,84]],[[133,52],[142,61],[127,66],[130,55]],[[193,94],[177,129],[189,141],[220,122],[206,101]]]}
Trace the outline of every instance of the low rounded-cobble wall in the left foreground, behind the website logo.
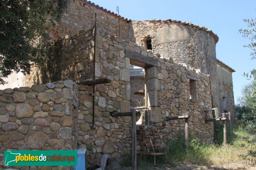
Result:
{"label": "low rounded-cobble wall in the left foreground, behind the website logo", "polygon": [[[4,150],[73,150],[76,85],[72,81],[0,90],[0,165]],[[8,167],[4,167],[8,168]],[[70,167],[12,167],[68,170]]]}

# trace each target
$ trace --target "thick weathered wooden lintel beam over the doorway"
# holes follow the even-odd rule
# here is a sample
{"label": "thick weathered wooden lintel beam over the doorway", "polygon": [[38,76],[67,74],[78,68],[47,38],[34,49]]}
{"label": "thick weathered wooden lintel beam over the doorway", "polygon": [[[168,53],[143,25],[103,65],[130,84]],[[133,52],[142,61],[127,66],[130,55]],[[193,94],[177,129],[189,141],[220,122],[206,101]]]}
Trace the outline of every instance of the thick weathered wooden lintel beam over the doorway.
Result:
{"label": "thick weathered wooden lintel beam over the doorway", "polygon": [[152,59],[150,57],[145,57],[141,54],[125,50],[125,57],[130,58],[130,64],[136,65],[142,68],[148,68],[148,67],[158,67],[158,61],[155,59]]}

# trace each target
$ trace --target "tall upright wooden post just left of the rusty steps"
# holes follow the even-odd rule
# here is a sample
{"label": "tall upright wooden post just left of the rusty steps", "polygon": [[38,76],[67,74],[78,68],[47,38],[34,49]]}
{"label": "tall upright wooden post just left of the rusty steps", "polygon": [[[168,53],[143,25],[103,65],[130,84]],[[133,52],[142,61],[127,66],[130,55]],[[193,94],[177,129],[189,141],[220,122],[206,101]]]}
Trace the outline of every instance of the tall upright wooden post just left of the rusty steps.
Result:
{"label": "tall upright wooden post just left of the rusty steps", "polygon": [[132,169],[137,168],[136,110],[132,109]]}

